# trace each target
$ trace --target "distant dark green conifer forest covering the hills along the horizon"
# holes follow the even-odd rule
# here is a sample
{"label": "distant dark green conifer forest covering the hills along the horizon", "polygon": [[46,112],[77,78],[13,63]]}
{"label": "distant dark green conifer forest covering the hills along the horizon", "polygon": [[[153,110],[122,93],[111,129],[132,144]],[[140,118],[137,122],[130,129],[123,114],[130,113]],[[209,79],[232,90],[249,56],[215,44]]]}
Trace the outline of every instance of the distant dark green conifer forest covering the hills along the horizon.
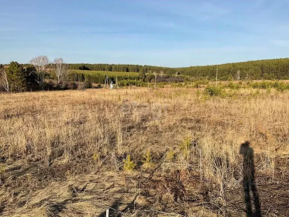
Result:
{"label": "distant dark green conifer forest covering the hills along the horizon", "polygon": [[289,79],[289,58],[272,60],[254,60],[239,63],[226,63],[220,65],[191,66],[182,68],[169,68],[150,65],[130,64],[69,64],[69,69],[111,71],[111,72],[157,72],[164,74],[182,74],[198,78],[213,79],[218,68],[219,80],[233,80],[240,72],[240,79]]}

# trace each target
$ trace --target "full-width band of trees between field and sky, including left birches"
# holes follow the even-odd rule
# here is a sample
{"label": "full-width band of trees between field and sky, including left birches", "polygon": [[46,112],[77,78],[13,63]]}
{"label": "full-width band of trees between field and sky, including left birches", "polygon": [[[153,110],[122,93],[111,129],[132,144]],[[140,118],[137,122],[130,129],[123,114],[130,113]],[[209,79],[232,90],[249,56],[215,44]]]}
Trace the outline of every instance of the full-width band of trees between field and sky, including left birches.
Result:
{"label": "full-width band of trees between field and sky, including left birches", "polygon": [[[151,82],[158,75],[164,82],[184,81],[189,79],[186,76],[211,80],[216,78],[217,69],[218,80],[289,79],[289,58],[168,68],[129,64],[66,64],[62,58],[56,58],[50,62],[47,56],[42,55],[33,58],[29,64],[17,62],[11,62],[8,65],[0,64],[0,84],[7,92],[65,89],[69,82],[72,86],[75,86],[77,81],[86,82],[87,86],[91,86],[92,82],[101,84],[107,72],[115,72],[111,75],[112,81],[118,77],[119,81],[130,80],[130,83]],[[122,72],[122,74],[116,72]],[[45,82],[47,78],[52,78],[55,83]]]}

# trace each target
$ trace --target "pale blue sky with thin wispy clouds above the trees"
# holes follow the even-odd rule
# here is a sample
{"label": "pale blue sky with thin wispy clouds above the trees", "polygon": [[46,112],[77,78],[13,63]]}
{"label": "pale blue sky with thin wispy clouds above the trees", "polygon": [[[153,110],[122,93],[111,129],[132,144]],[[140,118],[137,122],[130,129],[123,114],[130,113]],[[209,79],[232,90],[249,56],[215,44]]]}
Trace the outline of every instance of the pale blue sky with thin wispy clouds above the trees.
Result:
{"label": "pale blue sky with thin wispy clouds above the trees", "polygon": [[0,62],[169,67],[289,56],[289,0],[0,0]]}

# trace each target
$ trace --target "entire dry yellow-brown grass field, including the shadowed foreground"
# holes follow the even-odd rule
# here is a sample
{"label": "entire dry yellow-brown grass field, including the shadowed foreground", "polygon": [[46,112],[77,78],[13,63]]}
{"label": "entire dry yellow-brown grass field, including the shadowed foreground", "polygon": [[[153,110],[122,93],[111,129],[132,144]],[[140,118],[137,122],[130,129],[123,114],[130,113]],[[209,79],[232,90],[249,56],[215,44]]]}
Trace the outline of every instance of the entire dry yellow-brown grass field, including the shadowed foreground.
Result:
{"label": "entire dry yellow-brown grass field, including the shadowed foreground", "polygon": [[0,215],[289,216],[289,91],[226,93],[0,94]]}

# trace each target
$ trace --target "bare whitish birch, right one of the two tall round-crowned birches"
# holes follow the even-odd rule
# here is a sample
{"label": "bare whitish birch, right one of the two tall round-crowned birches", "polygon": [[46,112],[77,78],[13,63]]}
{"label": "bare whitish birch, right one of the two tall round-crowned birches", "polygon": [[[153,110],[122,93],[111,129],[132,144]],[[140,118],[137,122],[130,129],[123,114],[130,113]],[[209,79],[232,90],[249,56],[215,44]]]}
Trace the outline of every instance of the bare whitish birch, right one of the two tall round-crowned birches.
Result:
{"label": "bare whitish birch, right one of the two tall round-crowned birches", "polygon": [[69,73],[68,73],[68,65],[64,64],[62,58],[56,58],[54,60],[54,65],[53,65],[53,72],[57,78],[57,84],[60,86],[62,84],[62,87],[67,83],[68,78],[69,78]]}

